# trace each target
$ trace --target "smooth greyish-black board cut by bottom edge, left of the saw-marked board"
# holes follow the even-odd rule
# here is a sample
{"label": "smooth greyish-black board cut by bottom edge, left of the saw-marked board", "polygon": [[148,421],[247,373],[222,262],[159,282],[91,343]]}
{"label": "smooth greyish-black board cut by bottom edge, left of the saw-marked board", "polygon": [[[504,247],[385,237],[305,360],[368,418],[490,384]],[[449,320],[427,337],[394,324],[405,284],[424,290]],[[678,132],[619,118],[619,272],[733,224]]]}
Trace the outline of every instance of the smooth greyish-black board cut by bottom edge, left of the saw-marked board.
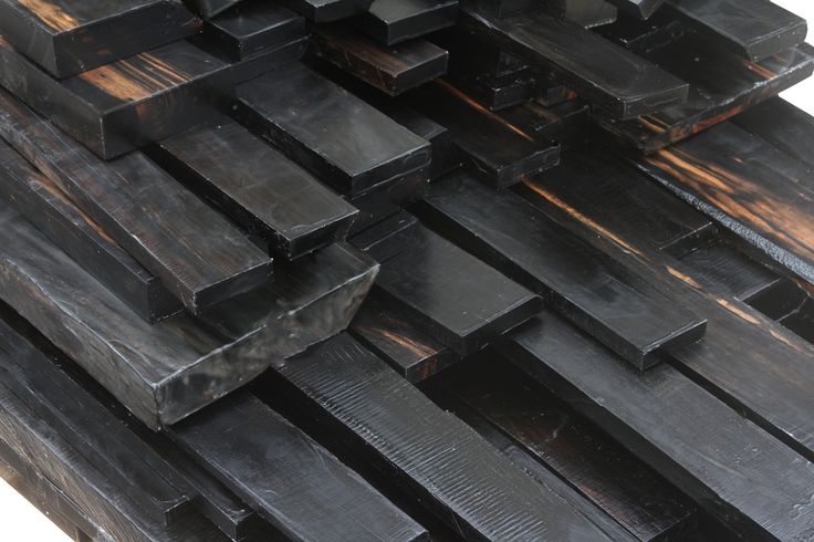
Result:
{"label": "smooth greyish-black board cut by bottom edge, left of the saw-marked board", "polygon": [[426,534],[249,393],[173,426],[170,435],[290,540],[414,541]]}

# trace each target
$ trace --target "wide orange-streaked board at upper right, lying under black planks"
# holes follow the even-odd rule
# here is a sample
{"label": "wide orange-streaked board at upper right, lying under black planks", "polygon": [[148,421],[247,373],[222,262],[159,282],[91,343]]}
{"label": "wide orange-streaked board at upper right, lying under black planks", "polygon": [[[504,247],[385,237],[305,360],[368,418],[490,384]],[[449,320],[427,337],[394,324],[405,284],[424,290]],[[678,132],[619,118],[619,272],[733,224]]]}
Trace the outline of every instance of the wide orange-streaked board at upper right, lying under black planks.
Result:
{"label": "wide orange-streaked board at upper right, lying under black planks", "polygon": [[714,126],[814,72],[814,48],[807,44],[751,62],[711,49],[695,34],[644,53],[644,58],[690,83],[687,103],[629,121],[602,113],[595,118],[625,144],[647,154]]}

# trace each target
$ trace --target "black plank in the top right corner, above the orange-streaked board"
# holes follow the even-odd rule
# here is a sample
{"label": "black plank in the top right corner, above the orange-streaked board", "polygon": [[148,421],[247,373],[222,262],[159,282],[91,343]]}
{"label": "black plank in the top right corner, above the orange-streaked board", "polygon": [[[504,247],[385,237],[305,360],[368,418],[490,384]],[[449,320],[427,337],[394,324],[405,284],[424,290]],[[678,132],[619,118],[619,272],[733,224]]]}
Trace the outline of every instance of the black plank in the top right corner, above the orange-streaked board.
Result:
{"label": "black plank in the top right corner, above the orange-streaked board", "polygon": [[668,0],[664,10],[752,61],[799,45],[807,30],[805,19],[768,0]]}

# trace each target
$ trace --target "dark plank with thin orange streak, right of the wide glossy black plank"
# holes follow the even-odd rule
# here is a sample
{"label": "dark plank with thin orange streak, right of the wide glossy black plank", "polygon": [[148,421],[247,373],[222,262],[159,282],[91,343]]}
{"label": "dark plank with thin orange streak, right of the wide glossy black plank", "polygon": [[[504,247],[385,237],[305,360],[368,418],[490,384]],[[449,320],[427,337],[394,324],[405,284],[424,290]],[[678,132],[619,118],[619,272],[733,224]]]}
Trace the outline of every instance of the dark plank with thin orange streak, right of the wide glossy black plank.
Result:
{"label": "dark plank with thin orange streak, right of the wide glossy black plank", "polygon": [[410,103],[445,126],[469,168],[495,188],[519,183],[560,160],[556,144],[538,140],[445,81],[418,88]]}

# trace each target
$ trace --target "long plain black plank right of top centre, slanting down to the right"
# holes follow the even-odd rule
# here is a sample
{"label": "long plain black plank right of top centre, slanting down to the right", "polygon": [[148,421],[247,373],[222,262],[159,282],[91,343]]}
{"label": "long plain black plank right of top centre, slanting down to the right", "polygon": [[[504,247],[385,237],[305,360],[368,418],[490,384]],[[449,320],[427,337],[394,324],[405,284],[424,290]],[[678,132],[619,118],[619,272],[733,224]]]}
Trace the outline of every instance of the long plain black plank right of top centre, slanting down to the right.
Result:
{"label": "long plain black plank right of top centre, slanting down to the right", "polygon": [[573,21],[542,12],[495,19],[471,4],[463,7],[461,19],[511,54],[556,71],[567,86],[616,117],[687,100],[689,85]]}

